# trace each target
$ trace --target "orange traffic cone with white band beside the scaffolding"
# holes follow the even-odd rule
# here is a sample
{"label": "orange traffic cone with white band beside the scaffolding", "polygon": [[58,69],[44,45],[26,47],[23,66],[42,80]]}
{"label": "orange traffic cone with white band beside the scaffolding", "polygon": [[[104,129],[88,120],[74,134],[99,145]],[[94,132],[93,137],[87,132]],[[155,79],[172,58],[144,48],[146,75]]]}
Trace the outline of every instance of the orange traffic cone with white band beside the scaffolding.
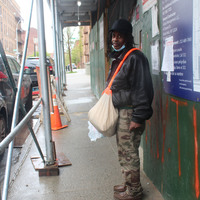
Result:
{"label": "orange traffic cone with white band beside the scaffolding", "polygon": [[51,129],[56,131],[67,127],[68,125],[62,126],[55,94],[53,95],[53,110],[54,113],[51,113]]}

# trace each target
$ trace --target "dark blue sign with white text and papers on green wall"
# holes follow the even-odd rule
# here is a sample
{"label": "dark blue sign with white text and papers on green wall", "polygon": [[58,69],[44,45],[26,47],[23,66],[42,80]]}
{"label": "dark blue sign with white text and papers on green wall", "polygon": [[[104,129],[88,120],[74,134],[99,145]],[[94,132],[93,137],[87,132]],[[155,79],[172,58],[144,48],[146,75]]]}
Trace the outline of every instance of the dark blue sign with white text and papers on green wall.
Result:
{"label": "dark blue sign with white text and papers on green wall", "polygon": [[162,0],[164,90],[192,101],[200,101],[199,19],[199,0]]}

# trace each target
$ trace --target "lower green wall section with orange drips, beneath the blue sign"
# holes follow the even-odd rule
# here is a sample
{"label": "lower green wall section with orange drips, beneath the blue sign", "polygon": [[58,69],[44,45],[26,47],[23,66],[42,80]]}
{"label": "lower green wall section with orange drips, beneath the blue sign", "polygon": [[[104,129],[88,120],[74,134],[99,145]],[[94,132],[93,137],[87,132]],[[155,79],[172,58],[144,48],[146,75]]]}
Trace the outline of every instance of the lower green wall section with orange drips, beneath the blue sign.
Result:
{"label": "lower green wall section with orange drips, beneath the blue sign", "polygon": [[[199,181],[199,178],[195,174],[195,150],[199,153],[199,148],[194,142],[193,109],[198,111],[199,105],[168,95],[162,96],[162,102],[162,127],[156,127],[160,124],[155,115],[157,107],[154,107],[154,115],[147,122],[143,141],[144,170],[165,199],[197,199],[195,180]],[[196,139],[200,141],[198,135]],[[199,171],[199,167],[196,170]]]}

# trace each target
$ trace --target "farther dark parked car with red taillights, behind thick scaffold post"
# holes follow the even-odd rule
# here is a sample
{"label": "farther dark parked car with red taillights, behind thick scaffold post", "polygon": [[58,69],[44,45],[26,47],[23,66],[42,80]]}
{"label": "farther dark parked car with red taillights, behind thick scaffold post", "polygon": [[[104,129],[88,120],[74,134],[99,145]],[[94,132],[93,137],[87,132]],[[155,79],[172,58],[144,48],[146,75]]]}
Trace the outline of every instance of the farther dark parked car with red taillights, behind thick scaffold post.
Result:
{"label": "farther dark parked car with red taillights, behind thick scaffold post", "polygon": [[[46,64],[49,67],[50,74],[55,75],[54,73],[54,61],[52,58],[47,57],[46,58]],[[30,69],[30,77],[32,80],[33,87],[38,86],[38,80],[37,80],[37,73],[36,73],[36,67],[40,67],[40,61],[39,57],[29,57],[26,59],[24,69]]]}

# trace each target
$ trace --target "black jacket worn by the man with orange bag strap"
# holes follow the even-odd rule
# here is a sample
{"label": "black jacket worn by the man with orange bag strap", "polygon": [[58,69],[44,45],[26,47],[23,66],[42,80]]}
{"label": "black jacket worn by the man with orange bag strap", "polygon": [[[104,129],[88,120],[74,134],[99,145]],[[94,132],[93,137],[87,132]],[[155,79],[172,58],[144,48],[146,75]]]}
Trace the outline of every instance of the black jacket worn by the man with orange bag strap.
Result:
{"label": "black jacket worn by the man with orange bag strap", "polygon": [[[128,50],[113,55],[107,85]],[[152,116],[153,84],[148,60],[141,51],[133,51],[127,57],[113,81],[111,90],[116,108],[133,108],[132,121],[143,123]]]}

